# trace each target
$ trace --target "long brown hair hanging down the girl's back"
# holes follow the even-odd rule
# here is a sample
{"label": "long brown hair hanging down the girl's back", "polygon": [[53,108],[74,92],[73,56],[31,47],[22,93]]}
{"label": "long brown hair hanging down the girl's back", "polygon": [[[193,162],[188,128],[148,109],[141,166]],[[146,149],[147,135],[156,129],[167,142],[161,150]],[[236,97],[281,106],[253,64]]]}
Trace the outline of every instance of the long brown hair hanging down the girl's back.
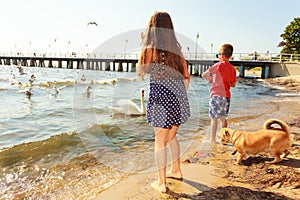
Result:
{"label": "long brown hair hanging down the girl's back", "polygon": [[[180,72],[185,78],[187,63],[181,52],[171,17],[166,12],[154,12],[151,16],[145,35],[142,35],[143,49],[138,62],[138,74],[143,76],[149,64],[164,62],[165,65]],[[164,55],[164,56],[163,56]],[[164,57],[164,60],[163,60]]]}

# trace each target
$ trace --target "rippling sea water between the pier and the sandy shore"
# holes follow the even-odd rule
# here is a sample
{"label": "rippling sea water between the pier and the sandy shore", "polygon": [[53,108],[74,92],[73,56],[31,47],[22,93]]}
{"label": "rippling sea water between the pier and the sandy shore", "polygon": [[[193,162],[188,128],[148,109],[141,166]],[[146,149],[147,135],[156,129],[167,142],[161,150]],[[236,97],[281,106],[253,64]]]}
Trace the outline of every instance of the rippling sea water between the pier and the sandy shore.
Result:
{"label": "rippling sea water between the pier and the sandy shore", "polygon": [[[133,72],[22,69],[0,65],[0,199],[95,199],[132,173],[156,170],[154,132],[146,117],[109,109],[120,99],[140,106],[141,88],[147,104],[147,78]],[[177,134],[181,153],[209,127],[209,87],[191,77],[191,117]],[[231,92],[231,119],[268,109],[268,104],[249,109],[251,102],[289,94],[254,77],[239,78]]]}

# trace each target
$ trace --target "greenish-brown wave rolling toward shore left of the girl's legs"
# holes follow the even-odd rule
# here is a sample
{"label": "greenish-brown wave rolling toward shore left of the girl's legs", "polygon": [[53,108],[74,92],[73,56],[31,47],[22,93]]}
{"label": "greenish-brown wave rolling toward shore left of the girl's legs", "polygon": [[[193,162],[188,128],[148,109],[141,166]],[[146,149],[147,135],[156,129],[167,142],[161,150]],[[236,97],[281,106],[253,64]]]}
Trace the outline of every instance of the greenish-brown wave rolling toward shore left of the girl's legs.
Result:
{"label": "greenish-brown wave rolling toward shore left of the girl's legs", "polygon": [[[98,112],[102,112],[98,109]],[[91,124],[84,131],[78,133],[67,132],[50,136],[45,140],[18,144],[0,150],[0,166],[7,167],[19,163],[33,164],[36,162],[54,164],[53,162],[63,162],[78,157],[86,148],[91,152],[104,147],[114,149],[116,146],[134,146],[135,143],[153,141],[152,129],[150,134],[145,134],[144,122],[142,119],[132,119],[131,122],[124,121],[118,125]],[[134,125],[136,124],[136,125]],[[134,126],[132,128],[132,126]],[[140,128],[140,131],[136,129]],[[96,145],[90,148],[88,143]],[[100,144],[100,145],[99,145]],[[102,146],[101,146],[102,145]],[[107,149],[106,149],[107,150]]]}

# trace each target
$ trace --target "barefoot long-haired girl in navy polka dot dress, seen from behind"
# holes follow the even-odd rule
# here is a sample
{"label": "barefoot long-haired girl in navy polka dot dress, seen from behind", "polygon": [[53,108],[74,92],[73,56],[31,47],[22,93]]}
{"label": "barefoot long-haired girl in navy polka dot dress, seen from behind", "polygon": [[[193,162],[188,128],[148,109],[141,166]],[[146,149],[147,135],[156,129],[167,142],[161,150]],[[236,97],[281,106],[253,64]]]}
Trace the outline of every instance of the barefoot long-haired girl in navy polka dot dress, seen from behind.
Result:
{"label": "barefoot long-haired girl in navy polka dot dress, seen from behind", "polygon": [[[171,17],[166,12],[154,12],[146,33],[142,33],[143,48],[137,65],[137,75],[150,74],[147,122],[155,132],[155,160],[158,180],[151,184],[166,192],[166,178],[182,179],[180,147],[176,137],[179,126],[190,116],[187,90],[190,75],[186,59],[175,37]],[[167,151],[171,153],[171,169],[166,172]]]}

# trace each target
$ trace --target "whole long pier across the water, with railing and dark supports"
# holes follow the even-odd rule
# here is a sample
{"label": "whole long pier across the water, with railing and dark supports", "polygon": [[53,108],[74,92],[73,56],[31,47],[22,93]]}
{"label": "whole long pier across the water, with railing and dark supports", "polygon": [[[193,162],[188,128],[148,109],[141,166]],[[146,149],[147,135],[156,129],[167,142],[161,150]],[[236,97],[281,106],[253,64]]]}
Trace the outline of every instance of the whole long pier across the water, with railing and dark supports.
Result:
{"label": "whole long pier across the water, with railing and dark supports", "polygon": [[[245,77],[245,70],[259,67],[261,68],[260,78],[271,78],[278,76],[292,75],[288,69],[293,63],[293,67],[300,70],[299,55],[280,54],[268,57],[255,57],[253,59],[249,54],[234,54],[230,60],[238,68],[239,76]],[[187,58],[188,70],[191,75],[201,76],[213,64],[218,62],[211,54],[199,54],[195,56],[185,55]],[[188,59],[191,58],[191,59]],[[296,61],[295,61],[296,60]],[[21,65],[25,67],[48,67],[48,68],[66,68],[66,69],[84,69],[84,70],[101,70],[101,71],[118,71],[118,72],[135,72],[138,55],[97,55],[93,54],[32,54],[24,56],[23,54],[1,54],[0,65]],[[284,65],[284,67],[283,67]],[[298,66],[299,65],[299,66]],[[299,70],[298,70],[299,69]],[[294,70],[295,71],[295,70]],[[297,72],[298,73],[298,72]],[[300,75],[300,74],[296,74]]]}

